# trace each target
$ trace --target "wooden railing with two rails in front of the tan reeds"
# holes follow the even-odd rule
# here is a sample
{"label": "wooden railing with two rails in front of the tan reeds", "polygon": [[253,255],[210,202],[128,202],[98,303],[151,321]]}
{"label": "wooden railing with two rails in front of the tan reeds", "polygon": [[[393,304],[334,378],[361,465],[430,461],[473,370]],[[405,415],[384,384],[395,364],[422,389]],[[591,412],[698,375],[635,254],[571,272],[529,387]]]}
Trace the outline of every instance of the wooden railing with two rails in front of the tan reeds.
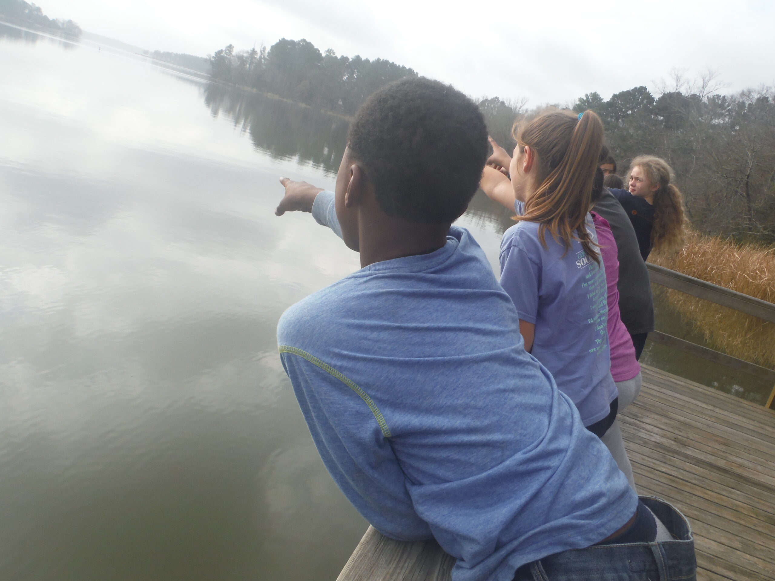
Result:
{"label": "wooden railing with two rails in front of the tan reeds", "polygon": [[[655,284],[680,290],[680,292],[691,294],[693,297],[721,304],[723,307],[775,323],[775,304],[762,301],[760,298],[749,297],[749,295],[736,292],[735,290],[719,287],[718,284],[711,284],[698,278],[689,277],[686,274],[677,273],[664,266],[657,266],[651,263],[646,263],[646,266],[649,269],[651,282]],[[749,363],[744,359],[738,359],[726,353],[715,351],[714,349],[708,349],[708,347],[699,346],[684,339],[678,339],[673,337],[673,335],[667,335],[667,333],[660,331],[650,332],[649,339],[671,349],[678,349],[690,355],[708,359],[708,361],[720,363],[723,366],[766,380],[773,385],[773,388],[765,407],[773,409],[773,404],[775,404],[775,371],[755,363]]]}

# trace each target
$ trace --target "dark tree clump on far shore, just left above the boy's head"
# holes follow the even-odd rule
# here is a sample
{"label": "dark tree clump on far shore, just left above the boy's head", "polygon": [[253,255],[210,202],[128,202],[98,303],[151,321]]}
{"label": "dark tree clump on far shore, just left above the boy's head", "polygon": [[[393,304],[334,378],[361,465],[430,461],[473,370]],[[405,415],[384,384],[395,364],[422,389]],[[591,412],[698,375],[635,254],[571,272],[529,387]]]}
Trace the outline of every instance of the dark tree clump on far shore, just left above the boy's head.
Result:
{"label": "dark tree clump on far shore, just left above the boy's head", "polygon": [[294,101],[352,115],[384,84],[415,76],[390,60],[321,53],[307,40],[281,39],[259,50],[235,52],[229,44],[210,59],[212,79],[254,88]]}

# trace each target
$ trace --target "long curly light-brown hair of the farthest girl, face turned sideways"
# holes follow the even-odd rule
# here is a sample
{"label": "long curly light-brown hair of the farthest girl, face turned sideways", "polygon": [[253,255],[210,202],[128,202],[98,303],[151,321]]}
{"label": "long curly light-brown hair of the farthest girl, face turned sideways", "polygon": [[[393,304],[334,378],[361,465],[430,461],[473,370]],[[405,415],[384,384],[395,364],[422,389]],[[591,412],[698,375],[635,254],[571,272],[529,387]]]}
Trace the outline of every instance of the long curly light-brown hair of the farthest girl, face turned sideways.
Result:
{"label": "long curly light-brown hair of the farthest girl, face turned sideways", "polygon": [[651,228],[654,252],[670,252],[684,246],[684,196],[675,184],[670,183],[675,179],[673,168],[656,156],[637,156],[630,163],[630,171],[633,167],[639,167],[651,185],[659,186],[654,192],[654,222]]}

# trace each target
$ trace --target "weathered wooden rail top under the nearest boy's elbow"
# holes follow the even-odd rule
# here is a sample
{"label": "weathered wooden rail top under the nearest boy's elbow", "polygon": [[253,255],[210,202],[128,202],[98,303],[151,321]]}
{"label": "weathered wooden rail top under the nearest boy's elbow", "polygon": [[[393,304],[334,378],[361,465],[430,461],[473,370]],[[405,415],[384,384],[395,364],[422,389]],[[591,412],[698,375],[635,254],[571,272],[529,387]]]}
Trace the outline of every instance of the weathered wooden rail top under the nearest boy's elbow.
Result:
{"label": "weathered wooden rail top under the nearest boy's elbow", "polygon": [[454,565],[436,541],[394,541],[369,526],[336,581],[449,581]]}

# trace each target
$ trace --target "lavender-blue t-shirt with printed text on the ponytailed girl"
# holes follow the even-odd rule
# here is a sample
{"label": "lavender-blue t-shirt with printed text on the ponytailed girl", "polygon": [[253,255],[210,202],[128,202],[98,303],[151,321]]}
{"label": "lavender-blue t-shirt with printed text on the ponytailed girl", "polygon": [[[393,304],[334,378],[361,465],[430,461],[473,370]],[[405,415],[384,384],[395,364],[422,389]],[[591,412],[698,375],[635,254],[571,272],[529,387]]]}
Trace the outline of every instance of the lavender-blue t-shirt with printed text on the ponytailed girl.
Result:
{"label": "lavender-blue t-shirt with printed text on the ponytailed girl", "polygon": [[[515,202],[517,215],[525,205]],[[570,249],[537,222],[518,222],[501,239],[501,285],[519,318],[536,325],[531,353],[557,387],[574,401],[584,425],[605,418],[617,397],[608,349],[608,291],[605,270],[574,240]],[[587,232],[597,236],[591,215]]]}

